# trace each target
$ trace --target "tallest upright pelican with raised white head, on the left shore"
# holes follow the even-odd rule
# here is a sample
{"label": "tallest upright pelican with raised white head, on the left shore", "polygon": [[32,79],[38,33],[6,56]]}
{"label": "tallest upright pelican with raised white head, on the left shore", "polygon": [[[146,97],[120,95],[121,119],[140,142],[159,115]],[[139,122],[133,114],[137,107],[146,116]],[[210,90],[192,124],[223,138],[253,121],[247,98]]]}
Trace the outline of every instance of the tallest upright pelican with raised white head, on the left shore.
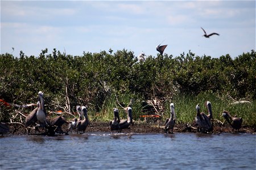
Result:
{"label": "tallest upright pelican with raised white head, on the left shore", "polygon": [[39,121],[40,126],[43,128],[46,127],[47,122],[46,122],[46,108],[44,108],[44,94],[42,91],[38,92],[38,100],[39,100],[39,107],[38,110],[36,111],[36,118]]}

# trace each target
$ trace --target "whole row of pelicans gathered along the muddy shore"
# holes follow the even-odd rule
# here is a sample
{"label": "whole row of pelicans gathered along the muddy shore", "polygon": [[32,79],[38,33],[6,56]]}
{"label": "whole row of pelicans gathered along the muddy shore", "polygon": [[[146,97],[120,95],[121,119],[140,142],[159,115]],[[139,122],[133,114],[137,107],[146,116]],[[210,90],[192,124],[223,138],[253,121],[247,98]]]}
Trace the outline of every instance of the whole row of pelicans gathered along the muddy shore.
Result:
{"label": "whole row of pelicans gathered along the muddy shore", "polygon": [[[199,104],[196,105],[196,117],[195,123],[197,125],[197,131],[201,133],[210,133],[213,131],[213,114],[212,114],[212,105],[209,101],[205,102],[207,107],[208,114],[200,112]],[[77,106],[77,113],[79,114],[78,118],[74,118],[71,121],[65,120],[63,116],[57,116],[54,118],[48,118],[46,114],[46,109],[44,107],[44,98],[43,92],[39,91],[38,93],[38,103],[37,107],[28,114],[25,122],[25,126],[28,129],[31,129],[32,126],[35,126],[35,130],[38,130],[39,127],[46,129],[48,135],[55,135],[55,133],[65,133],[68,134],[69,131],[76,131],[78,134],[84,134],[86,128],[89,125],[88,118],[88,108],[85,106]],[[133,115],[131,107],[126,107],[125,112],[127,113],[127,119],[120,119],[119,111],[117,108],[114,108],[114,118],[109,122],[111,131],[122,131],[122,129],[130,129],[130,125],[133,125]],[[170,118],[167,118],[164,122],[164,131],[165,133],[174,133],[174,126],[176,121],[176,114],[174,103],[170,104]],[[224,111],[222,116],[225,120],[232,126],[233,130],[239,130],[242,125],[243,119],[237,116],[230,116],[228,111]],[[37,124],[39,122],[39,124]],[[61,126],[68,124],[67,131],[63,131]],[[28,127],[30,126],[30,127]],[[30,133],[30,131],[28,131]]]}

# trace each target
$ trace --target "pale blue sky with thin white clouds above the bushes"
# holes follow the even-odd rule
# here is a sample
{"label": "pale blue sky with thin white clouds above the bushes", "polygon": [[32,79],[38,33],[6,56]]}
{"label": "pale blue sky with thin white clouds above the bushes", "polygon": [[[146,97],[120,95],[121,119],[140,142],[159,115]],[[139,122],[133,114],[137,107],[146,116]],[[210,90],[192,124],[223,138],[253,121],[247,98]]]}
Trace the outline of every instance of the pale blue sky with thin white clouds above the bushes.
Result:
{"label": "pale blue sky with thin white clouds above the bushes", "polygon": [[[207,39],[201,27],[220,36]],[[161,42],[174,57],[191,50],[234,58],[255,50],[255,1],[1,0],[1,54],[56,48],[82,56],[111,48],[156,57]]]}

